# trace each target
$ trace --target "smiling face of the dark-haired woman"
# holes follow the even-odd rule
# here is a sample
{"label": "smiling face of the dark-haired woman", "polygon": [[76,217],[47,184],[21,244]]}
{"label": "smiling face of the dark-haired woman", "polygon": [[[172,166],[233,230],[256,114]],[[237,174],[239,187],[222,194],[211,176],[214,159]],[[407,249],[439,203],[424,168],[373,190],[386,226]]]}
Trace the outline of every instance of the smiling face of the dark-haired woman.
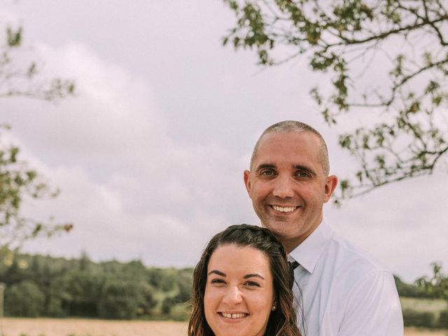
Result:
{"label": "smiling face of the dark-haired woman", "polygon": [[216,336],[262,336],[274,304],[269,260],[261,251],[218,246],[209,260],[205,318]]}

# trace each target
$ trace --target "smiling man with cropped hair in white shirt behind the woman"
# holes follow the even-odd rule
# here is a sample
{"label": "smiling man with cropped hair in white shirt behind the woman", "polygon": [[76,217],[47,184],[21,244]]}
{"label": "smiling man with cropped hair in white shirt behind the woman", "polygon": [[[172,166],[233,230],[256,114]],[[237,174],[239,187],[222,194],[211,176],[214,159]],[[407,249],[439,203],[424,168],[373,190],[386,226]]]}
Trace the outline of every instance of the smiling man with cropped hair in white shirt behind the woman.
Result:
{"label": "smiling man with cropped hair in white shirt behind the woman", "polygon": [[[305,336],[402,336],[393,275],[337,236],[323,204],[337,186],[321,134],[297,121],[262,133],[244,183],[262,226],[286,247]],[[297,264],[296,264],[297,265]]]}

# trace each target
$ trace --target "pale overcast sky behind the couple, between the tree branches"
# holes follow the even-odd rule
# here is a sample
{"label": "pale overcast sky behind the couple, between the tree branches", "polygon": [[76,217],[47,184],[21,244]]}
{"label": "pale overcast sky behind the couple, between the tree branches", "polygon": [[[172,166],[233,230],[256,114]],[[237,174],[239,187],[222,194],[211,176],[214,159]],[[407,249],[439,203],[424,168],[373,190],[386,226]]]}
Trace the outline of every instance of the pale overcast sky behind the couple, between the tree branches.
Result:
{"label": "pale overcast sky behind the couple, between the tree branches", "polygon": [[[258,224],[242,176],[256,139],[279,120],[309,123],[328,141],[332,174],[356,167],[309,98],[321,77],[306,59],[261,69],[224,48],[234,18],[223,1],[2,1],[3,25],[24,27],[45,73],[76,80],[59,104],[1,99],[3,140],[62,193],[25,214],[75,225],[25,251],[93,260],[195,265],[228,225]],[[4,29],[3,29],[4,30]],[[3,37],[3,35],[1,35]],[[3,42],[2,42],[3,43]],[[364,117],[350,116],[353,125]],[[337,232],[405,281],[448,269],[447,172],[325,204]]]}

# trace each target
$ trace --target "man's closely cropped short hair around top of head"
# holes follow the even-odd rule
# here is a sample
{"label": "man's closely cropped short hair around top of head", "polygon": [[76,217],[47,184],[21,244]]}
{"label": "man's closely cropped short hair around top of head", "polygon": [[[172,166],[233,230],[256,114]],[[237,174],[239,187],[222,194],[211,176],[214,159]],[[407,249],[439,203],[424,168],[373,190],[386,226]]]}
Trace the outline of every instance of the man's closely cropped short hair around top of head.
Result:
{"label": "man's closely cropped short hair around top of head", "polygon": [[325,140],[323,139],[322,135],[314,130],[313,127],[301,123],[300,121],[296,120],[284,120],[279,123],[276,123],[274,125],[271,125],[267,127],[265,132],[262,132],[260,135],[260,138],[258,138],[257,143],[255,144],[255,147],[253,148],[252,157],[251,157],[251,169],[253,165],[253,160],[255,160],[255,155],[257,155],[258,147],[260,146],[260,141],[262,137],[265,136],[265,134],[269,133],[301,133],[301,132],[311,132],[312,134],[316,135],[318,138],[321,148],[319,151],[319,160],[321,160],[321,165],[323,169],[323,174],[325,176],[328,176],[328,173],[330,172],[330,160],[328,160],[328,148],[327,144],[325,144]]}

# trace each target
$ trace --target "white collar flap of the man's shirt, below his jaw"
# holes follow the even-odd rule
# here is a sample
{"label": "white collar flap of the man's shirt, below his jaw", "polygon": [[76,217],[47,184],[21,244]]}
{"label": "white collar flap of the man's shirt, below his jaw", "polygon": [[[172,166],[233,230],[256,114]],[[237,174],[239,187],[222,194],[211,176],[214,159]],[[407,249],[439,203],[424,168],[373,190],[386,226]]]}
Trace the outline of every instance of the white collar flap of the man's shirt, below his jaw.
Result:
{"label": "white collar flap of the man's shirt, below his jaw", "polygon": [[311,232],[302,243],[289,253],[289,257],[296,260],[309,273],[314,271],[325,245],[330,241],[334,232],[324,220]]}

